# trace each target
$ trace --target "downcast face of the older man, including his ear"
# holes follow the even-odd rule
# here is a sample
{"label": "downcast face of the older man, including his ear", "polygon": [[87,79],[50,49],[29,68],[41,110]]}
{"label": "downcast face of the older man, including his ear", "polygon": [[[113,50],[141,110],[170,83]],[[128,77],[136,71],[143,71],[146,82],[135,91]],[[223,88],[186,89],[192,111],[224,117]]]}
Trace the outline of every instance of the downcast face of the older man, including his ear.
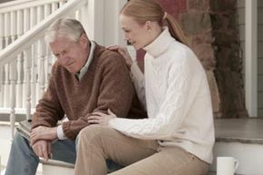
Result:
{"label": "downcast face of the older man, including his ear", "polygon": [[70,73],[81,70],[88,58],[88,39],[82,34],[77,42],[64,37],[57,37],[50,43],[50,48],[58,62]]}

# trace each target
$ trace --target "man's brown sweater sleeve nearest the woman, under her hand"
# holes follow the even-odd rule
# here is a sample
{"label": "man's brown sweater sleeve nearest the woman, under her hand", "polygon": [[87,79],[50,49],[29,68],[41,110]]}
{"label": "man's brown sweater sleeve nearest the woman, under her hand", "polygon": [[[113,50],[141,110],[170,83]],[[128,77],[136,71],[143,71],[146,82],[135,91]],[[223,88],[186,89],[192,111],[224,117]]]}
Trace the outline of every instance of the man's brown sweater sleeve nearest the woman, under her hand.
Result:
{"label": "man's brown sweater sleeve nearest the woman, under her hand", "polygon": [[[101,70],[100,94],[93,112],[111,109],[118,117],[126,117],[135,93],[126,63],[119,54],[114,53],[98,66]],[[74,139],[79,131],[89,125],[87,119],[90,115],[87,113],[77,121],[63,122],[65,136]]]}

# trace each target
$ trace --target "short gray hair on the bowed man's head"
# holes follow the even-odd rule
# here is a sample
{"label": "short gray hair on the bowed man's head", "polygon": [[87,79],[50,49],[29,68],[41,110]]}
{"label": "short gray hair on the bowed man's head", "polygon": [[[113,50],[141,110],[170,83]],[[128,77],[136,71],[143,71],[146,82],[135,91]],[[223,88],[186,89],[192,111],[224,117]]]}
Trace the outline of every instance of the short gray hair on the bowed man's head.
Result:
{"label": "short gray hair on the bowed man's head", "polygon": [[57,37],[67,37],[77,42],[82,34],[86,34],[83,25],[71,18],[60,18],[54,21],[45,32],[46,44],[54,42]]}

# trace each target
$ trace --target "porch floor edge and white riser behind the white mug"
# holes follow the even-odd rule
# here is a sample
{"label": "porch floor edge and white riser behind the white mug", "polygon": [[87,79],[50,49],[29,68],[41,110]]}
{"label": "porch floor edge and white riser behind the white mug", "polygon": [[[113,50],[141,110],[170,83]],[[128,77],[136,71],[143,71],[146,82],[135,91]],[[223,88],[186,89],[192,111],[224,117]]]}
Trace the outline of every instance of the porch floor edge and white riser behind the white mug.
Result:
{"label": "porch floor edge and white riser behind the white mug", "polygon": [[216,144],[210,172],[216,171],[216,159],[231,156],[239,160],[237,174],[263,174],[263,120],[217,119],[215,120]]}

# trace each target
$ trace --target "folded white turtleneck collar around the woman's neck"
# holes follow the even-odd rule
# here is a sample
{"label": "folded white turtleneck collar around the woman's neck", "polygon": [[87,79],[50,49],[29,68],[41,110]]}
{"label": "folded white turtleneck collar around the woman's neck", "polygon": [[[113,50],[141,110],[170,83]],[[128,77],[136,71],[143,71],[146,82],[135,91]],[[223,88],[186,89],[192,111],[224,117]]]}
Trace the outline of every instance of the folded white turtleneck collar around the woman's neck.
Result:
{"label": "folded white turtleneck collar around the woman's neck", "polygon": [[152,57],[158,57],[166,51],[170,43],[174,42],[175,39],[170,35],[168,27],[164,27],[161,34],[151,42],[151,44],[146,45],[143,50],[151,54]]}

